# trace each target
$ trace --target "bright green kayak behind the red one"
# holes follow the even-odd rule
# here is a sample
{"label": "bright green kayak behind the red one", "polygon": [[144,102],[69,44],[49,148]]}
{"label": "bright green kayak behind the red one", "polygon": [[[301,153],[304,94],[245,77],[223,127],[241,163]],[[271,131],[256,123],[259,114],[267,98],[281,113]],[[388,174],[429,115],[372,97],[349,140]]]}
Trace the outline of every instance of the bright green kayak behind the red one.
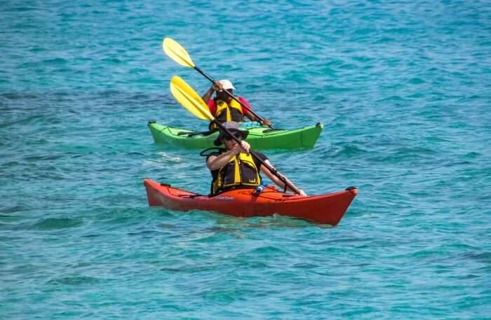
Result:
{"label": "bright green kayak behind the red one", "polygon": [[[153,121],[148,123],[150,132],[156,144],[173,144],[190,149],[212,148],[218,132],[194,132],[159,125]],[[270,129],[269,127],[247,127],[250,147],[255,150],[314,148],[317,138],[322,131],[321,123],[295,130]]]}

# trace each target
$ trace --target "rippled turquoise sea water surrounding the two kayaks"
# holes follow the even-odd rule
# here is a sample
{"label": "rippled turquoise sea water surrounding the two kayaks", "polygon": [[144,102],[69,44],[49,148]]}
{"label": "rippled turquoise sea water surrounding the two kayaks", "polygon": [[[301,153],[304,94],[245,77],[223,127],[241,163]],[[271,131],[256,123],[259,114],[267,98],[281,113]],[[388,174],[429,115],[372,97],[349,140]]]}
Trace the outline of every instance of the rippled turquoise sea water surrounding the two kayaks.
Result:
{"label": "rippled turquoise sea water surrounding the two kayaks", "polygon": [[[1,319],[489,319],[489,2],[6,1],[0,33]],[[210,178],[147,129],[206,129],[164,36],[276,126],[325,125],[266,153],[358,186],[336,228],[148,207],[144,178]]]}

